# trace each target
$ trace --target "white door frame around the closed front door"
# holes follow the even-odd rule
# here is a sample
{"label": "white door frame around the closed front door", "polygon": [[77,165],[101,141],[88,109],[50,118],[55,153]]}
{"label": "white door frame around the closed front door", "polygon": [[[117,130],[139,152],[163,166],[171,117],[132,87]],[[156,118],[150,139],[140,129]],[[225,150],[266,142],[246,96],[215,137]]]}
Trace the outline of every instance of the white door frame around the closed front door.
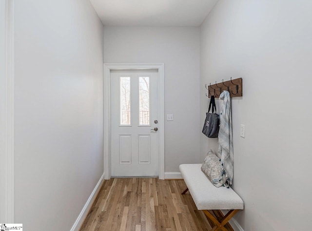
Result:
{"label": "white door frame around the closed front door", "polygon": [[159,179],[165,179],[164,138],[164,64],[163,63],[104,63],[103,79],[103,125],[104,125],[104,177],[111,178],[111,116],[110,74],[111,70],[157,70],[158,71],[158,121],[159,121]]}

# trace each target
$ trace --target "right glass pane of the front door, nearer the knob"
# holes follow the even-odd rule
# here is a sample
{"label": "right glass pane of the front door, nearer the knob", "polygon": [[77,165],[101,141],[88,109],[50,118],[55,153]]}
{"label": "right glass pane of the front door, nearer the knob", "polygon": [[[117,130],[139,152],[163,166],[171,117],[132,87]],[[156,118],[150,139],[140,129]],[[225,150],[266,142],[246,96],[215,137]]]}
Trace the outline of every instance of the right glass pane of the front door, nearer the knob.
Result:
{"label": "right glass pane of the front door, nearer the knob", "polygon": [[139,125],[150,125],[150,77],[139,77]]}

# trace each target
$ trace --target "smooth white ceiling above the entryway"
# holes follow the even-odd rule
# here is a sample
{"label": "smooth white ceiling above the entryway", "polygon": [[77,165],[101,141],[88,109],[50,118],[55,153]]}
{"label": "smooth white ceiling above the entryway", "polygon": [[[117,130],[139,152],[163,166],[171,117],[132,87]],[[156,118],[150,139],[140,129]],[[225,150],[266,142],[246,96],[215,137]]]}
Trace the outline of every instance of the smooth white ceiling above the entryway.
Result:
{"label": "smooth white ceiling above the entryway", "polygon": [[199,26],[217,0],[90,0],[104,25]]}

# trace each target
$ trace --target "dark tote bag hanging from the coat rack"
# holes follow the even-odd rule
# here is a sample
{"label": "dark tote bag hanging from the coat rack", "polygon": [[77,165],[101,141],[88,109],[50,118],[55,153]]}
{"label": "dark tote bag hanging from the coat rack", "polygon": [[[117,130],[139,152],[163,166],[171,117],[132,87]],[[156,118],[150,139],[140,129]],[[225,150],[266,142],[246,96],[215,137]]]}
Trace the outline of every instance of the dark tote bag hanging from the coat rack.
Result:
{"label": "dark tote bag hanging from the coat rack", "polygon": [[[212,109],[212,113],[210,113],[210,109]],[[215,112],[215,113],[214,113]],[[206,113],[206,119],[203,127],[202,133],[206,135],[208,138],[217,138],[219,133],[219,115],[216,114],[216,107],[215,107],[215,96],[211,96],[209,102],[209,109]]]}

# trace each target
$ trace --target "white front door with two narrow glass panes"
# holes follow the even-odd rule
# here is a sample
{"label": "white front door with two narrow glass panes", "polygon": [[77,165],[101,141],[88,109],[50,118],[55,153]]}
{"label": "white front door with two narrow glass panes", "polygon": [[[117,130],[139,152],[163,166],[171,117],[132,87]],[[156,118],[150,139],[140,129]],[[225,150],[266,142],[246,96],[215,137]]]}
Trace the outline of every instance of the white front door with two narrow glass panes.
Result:
{"label": "white front door with two narrow glass panes", "polygon": [[110,82],[111,175],[158,176],[158,71],[112,70]]}

